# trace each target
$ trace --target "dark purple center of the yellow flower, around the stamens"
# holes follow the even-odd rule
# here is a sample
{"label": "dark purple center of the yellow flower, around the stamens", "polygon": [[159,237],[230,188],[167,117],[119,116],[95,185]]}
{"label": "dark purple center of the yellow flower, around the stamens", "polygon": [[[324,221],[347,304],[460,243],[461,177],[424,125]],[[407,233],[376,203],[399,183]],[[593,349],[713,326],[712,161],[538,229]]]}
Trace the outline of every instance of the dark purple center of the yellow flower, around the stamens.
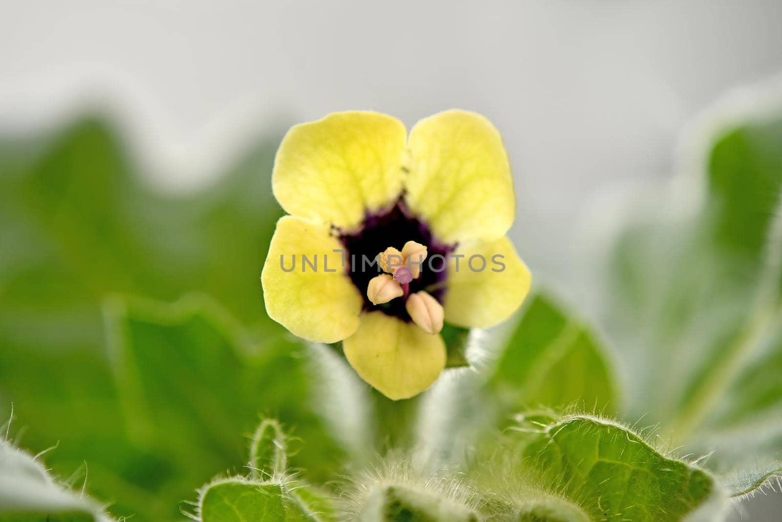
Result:
{"label": "dark purple center of the yellow flower, around the stamens", "polygon": [[[448,275],[448,254],[454,251],[456,245],[446,245],[440,243],[433,235],[429,226],[418,217],[411,214],[403,200],[399,200],[389,211],[379,212],[378,214],[367,214],[361,229],[350,234],[340,233],[339,240],[345,247],[346,270],[353,284],[364,297],[364,309],[368,311],[382,310],[388,315],[393,315],[404,321],[410,321],[410,315],[404,308],[404,299],[397,298],[384,304],[372,304],[367,297],[367,286],[369,281],[376,275],[382,274],[382,269],[378,263],[370,266],[368,261],[372,261],[382,251],[388,247],[395,247],[401,250],[407,241],[421,243],[427,248],[427,257],[421,265],[421,275],[418,279],[410,279],[409,291],[405,293],[416,293],[425,290],[432,295],[440,304],[443,303],[443,297],[446,292],[446,280]],[[410,276],[407,268],[397,268],[407,272],[400,273],[400,278],[406,279]],[[394,275],[400,283],[399,278]]]}

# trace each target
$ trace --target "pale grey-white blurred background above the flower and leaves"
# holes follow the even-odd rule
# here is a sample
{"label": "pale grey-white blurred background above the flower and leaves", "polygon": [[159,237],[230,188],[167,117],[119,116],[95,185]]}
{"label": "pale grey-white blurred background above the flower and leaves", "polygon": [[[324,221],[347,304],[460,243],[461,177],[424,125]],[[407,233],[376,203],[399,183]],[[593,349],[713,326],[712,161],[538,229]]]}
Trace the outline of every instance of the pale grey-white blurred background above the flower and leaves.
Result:
{"label": "pale grey-white blurred background above the flower and leaves", "polygon": [[[779,0],[0,0],[0,131],[99,103],[150,181],[178,190],[259,133],[335,110],[408,125],[475,110],[511,155],[511,236],[567,291],[594,196],[671,177],[694,115],[782,73],[780,28]],[[743,520],[779,520],[782,502],[746,508]]]}

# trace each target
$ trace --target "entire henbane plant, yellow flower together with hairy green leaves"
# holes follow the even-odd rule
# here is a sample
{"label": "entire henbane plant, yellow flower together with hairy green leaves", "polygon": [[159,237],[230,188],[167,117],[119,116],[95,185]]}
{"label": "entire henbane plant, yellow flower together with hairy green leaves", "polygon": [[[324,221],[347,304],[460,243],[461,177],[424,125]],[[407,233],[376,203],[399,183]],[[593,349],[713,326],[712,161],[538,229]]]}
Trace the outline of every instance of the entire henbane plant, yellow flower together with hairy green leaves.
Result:
{"label": "entire henbane plant, yellow flower together with hairy green leaves", "polygon": [[[504,147],[472,113],[428,118],[410,139],[376,113],[297,126],[274,168],[268,154],[262,162],[292,214],[276,232],[278,213],[253,214],[260,211],[251,198],[244,210],[231,203],[252,192],[242,190],[246,181],[228,182],[224,199],[193,200],[199,212],[226,220],[214,236],[221,250],[230,249],[231,231],[271,243],[265,256],[233,252],[239,273],[252,277],[231,265],[188,265],[199,275],[197,293],[172,283],[178,274],[168,269],[174,254],[166,245],[185,237],[190,251],[210,252],[217,239],[193,239],[206,237],[198,225],[164,229],[165,240],[128,227],[125,212],[139,212],[130,222],[162,208],[170,221],[192,218],[192,208],[156,207],[138,190],[100,212],[116,212],[105,220],[109,237],[127,236],[120,243],[153,255],[127,268],[133,276],[123,284],[106,283],[121,267],[84,224],[99,214],[90,204],[106,205],[125,193],[113,184],[132,186],[132,178],[119,176],[107,189],[92,185],[100,168],[68,170],[90,158],[124,165],[106,131],[77,126],[42,158],[39,147],[5,161],[0,218],[30,214],[45,233],[27,256],[49,257],[35,277],[22,262],[0,267],[8,278],[2,316],[16,317],[14,304],[26,301],[13,292],[45,276],[74,286],[76,301],[63,305],[98,319],[80,316],[94,329],[76,339],[42,336],[22,320],[0,330],[9,347],[0,350],[0,390],[19,416],[46,413],[25,421],[24,437],[40,451],[53,444],[46,437],[65,432],[60,447],[41,456],[52,471],[29,483],[27,504],[3,493],[41,466],[0,462],[0,520],[723,520],[731,499],[769,487],[782,469],[782,98],[773,95],[701,134],[700,160],[683,163],[699,197],[668,206],[681,184],[626,196],[636,198],[633,212],[610,242],[594,243],[601,264],[588,272],[594,299],[580,313],[540,283],[529,291],[529,272],[504,239],[513,218]],[[416,176],[432,166],[439,193],[428,200],[428,183]],[[236,179],[254,183],[258,170]],[[58,176],[101,197],[59,202],[55,219],[49,209],[58,193],[38,188],[66,182]],[[267,195],[268,180],[262,186]],[[650,199],[651,210],[639,212]],[[457,272],[454,259],[443,276],[414,262],[468,245],[480,246],[469,254],[486,259],[488,272]],[[59,248],[67,255],[52,257]],[[103,259],[101,270],[69,268],[84,256],[80,248]],[[385,257],[375,272],[354,275],[342,266],[351,249]],[[296,274],[285,272],[280,254],[326,255],[339,271],[303,272],[299,264]],[[495,254],[508,270],[490,272]],[[299,337],[263,314],[257,287],[244,293],[264,261],[265,306]],[[51,321],[49,310],[38,315]],[[74,349],[102,335],[106,346],[95,353]],[[33,358],[38,342],[56,346],[59,357]],[[82,424],[66,422],[74,418]],[[52,478],[83,460],[84,495]],[[114,503],[103,509],[95,498]]]}

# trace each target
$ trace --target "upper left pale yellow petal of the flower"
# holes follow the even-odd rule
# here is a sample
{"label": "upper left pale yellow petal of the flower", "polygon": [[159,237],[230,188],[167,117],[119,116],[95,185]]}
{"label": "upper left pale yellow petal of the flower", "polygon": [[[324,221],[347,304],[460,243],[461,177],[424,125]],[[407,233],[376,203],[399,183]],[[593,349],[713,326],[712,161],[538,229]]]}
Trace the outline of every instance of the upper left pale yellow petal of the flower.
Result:
{"label": "upper left pale yellow petal of the flower", "polygon": [[294,126],[274,159],[274,197],[289,214],[355,229],[402,189],[404,124],[381,113],[332,113]]}

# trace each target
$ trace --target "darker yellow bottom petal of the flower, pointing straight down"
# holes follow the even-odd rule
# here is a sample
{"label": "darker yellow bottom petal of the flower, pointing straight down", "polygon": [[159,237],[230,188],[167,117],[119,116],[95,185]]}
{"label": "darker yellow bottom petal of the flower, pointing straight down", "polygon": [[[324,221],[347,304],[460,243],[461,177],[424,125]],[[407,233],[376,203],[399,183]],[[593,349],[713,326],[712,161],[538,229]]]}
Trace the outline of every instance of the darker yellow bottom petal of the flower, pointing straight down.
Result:
{"label": "darker yellow bottom petal of the flower, pointing straight down", "polygon": [[411,398],[445,368],[445,343],[411,322],[382,311],[361,315],[361,326],[343,342],[350,365],[386,397]]}

